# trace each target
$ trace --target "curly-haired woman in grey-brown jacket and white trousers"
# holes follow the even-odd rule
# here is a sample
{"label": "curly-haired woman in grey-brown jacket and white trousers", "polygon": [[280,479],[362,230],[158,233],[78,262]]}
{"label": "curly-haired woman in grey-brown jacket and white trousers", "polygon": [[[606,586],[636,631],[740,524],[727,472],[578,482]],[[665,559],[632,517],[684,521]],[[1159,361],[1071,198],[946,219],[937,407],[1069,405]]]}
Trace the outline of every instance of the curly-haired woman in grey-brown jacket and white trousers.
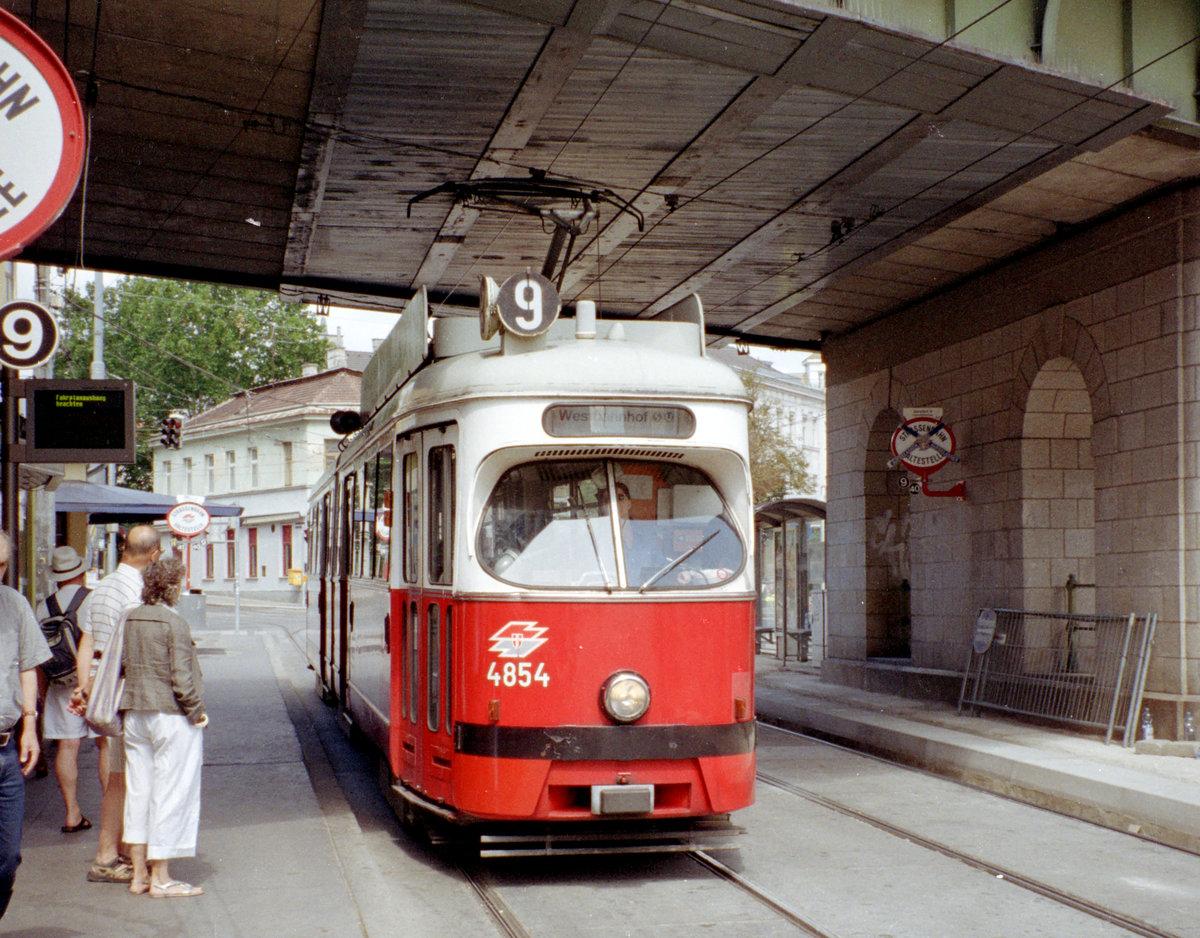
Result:
{"label": "curly-haired woman in grey-brown jacket and white trousers", "polygon": [[200,823],[203,733],[200,666],[179,601],[184,563],[167,557],[143,573],[142,602],[125,620],[125,840],[130,891],[152,898],[199,896],[170,878],[168,862],[196,855]]}

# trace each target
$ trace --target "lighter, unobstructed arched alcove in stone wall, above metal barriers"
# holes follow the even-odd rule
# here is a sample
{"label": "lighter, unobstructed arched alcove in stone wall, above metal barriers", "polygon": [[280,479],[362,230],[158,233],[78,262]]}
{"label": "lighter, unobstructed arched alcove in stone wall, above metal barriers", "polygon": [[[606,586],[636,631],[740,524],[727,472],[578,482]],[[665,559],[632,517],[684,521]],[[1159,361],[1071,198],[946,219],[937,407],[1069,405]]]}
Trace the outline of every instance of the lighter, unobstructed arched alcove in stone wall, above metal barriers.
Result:
{"label": "lighter, unobstructed arched alcove in stone wall, above metal barriers", "polygon": [[1021,563],[1026,609],[1096,611],[1092,402],[1067,357],[1042,365],[1021,425]]}

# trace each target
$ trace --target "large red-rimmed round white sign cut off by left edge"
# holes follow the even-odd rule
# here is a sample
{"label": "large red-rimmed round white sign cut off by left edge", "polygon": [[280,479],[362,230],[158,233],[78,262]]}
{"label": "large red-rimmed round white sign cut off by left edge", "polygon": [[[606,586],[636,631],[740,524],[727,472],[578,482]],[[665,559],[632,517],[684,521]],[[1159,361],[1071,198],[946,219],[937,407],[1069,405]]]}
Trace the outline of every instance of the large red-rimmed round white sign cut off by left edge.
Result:
{"label": "large red-rimmed round white sign cut off by left edge", "polygon": [[71,202],[84,158],[74,82],[41,37],[0,10],[0,260]]}

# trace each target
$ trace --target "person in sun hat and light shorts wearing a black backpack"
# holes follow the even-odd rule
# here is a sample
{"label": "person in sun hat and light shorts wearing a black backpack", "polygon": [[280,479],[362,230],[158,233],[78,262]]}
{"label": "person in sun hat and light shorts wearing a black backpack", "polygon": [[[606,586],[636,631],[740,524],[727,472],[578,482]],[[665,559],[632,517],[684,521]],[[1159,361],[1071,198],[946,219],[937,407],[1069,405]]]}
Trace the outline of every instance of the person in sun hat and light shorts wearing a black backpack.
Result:
{"label": "person in sun hat and light shorts wearing a black backpack", "polygon": [[50,579],[58,589],[37,606],[37,621],[53,657],[42,665],[46,679],[43,709],[44,738],[56,739],[54,775],[62,792],[66,818],[64,834],[78,834],[91,828],[79,810],[79,747],[88,735],[88,723],[70,709],[71,692],[77,684],[76,651],[79,647],[79,606],[91,591],[83,585],[88,565],[73,547],[55,547],[50,555]]}

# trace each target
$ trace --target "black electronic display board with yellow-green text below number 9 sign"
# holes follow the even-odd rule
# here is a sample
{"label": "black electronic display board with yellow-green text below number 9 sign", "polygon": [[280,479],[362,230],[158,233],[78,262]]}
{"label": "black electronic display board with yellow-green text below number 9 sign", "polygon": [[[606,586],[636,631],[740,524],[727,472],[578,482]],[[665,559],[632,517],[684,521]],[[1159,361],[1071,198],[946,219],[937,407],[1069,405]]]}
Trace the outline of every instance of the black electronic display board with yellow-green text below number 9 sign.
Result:
{"label": "black electronic display board with yellow-green text below number 9 sign", "polygon": [[25,381],[24,462],[132,463],[133,381]]}

